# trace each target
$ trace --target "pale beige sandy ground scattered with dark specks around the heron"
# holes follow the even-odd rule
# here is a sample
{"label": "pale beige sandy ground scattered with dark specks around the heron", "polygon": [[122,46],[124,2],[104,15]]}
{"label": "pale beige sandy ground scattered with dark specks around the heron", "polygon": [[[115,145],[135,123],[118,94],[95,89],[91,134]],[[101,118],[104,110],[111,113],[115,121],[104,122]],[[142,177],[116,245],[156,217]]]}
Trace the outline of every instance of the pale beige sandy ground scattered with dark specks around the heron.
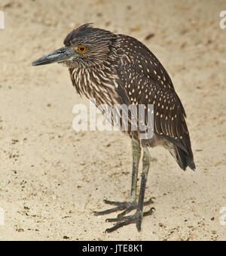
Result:
{"label": "pale beige sandy ground scattered with dark specks around the heron", "polygon": [[[226,207],[224,0],[1,0],[1,240],[225,240]],[[197,171],[182,171],[166,150],[150,150],[145,197],[153,216],[115,233],[102,199],[130,194],[130,139],[114,131],[72,129],[75,93],[68,70],[33,67],[83,23],[141,40],[169,71],[188,114]],[[153,36],[151,36],[153,34]],[[148,39],[149,38],[149,39]],[[115,217],[110,214],[107,217]]]}

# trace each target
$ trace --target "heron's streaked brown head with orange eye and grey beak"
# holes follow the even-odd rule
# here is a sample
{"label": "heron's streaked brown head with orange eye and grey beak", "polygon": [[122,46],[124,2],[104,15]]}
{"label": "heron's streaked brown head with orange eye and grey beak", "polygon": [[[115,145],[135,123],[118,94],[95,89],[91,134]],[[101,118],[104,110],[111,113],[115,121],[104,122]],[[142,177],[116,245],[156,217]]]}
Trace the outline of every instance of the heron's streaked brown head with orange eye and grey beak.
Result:
{"label": "heron's streaked brown head with orange eye and grey beak", "polygon": [[117,35],[89,24],[69,32],[64,47],[38,58],[32,66],[50,63],[64,63],[69,67],[94,66],[102,63],[111,54]]}

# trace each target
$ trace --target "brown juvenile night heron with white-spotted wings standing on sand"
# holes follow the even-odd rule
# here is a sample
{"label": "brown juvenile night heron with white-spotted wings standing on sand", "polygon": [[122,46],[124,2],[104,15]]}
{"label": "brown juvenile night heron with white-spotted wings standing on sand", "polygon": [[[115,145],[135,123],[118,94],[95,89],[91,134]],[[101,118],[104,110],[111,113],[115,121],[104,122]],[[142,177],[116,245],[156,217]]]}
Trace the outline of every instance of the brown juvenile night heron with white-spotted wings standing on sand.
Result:
{"label": "brown juvenile night heron with white-spotted wings standing on sand", "polygon": [[[143,211],[145,184],[151,156],[148,147],[161,145],[170,151],[180,168],[195,169],[191,142],[185,122],[185,109],[179,100],[170,76],[157,57],[138,40],[128,35],[116,35],[104,29],[93,28],[90,24],[72,30],[64,40],[64,47],[35,60],[32,65],[64,63],[69,67],[72,84],[78,94],[95,99],[96,106],[108,104],[112,109],[115,104],[135,106],[154,106],[154,123],[151,138],[141,137],[139,127],[131,129],[131,113],[127,134],[132,139],[133,172],[130,200],[128,202],[111,202],[114,208],[95,211],[96,215],[122,211],[116,218],[106,221],[115,222],[115,226],[106,230],[111,232],[124,225],[136,223],[141,230],[142,217],[150,215],[154,208]],[[139,115],[139,114],[138,114]],[[122,115],[121,115],[122,116]],[[145,117],[145,124],[147,120]],[[122,126],[122,122],[121,122]],[[136,199],[137,174],[139,159],[142,156],[142,180],[138,202]],[[133,209],[136,212],[126,215]]]}

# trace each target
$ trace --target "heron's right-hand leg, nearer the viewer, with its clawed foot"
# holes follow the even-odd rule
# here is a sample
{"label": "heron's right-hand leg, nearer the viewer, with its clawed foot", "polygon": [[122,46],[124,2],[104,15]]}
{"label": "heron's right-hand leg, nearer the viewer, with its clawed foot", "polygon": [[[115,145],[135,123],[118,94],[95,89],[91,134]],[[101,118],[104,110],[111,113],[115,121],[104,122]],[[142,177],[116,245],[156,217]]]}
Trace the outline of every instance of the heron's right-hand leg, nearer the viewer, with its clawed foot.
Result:
{"label": "heron's right-hand leg, nearer the viewer, with its clawed foot", "polygon": [[[140,192],[139,192],[139,200],[138,200],[138,204],[136,207],[136,213],[130,216],[118,216],[115,219],[107,219],[106,221],[108,222],[115,222],[117,221],[118,223],[115,224],[115,226],[109,228],[106,230],[106,232],[112,232],[115,230],[118,230],[118,228],[126,226],[128,224],[131,223],[136,223],[136,227],[137,230],[141,230],[141,223],[142,223],[142,217],[143,216],[147,216],[147,215],[151,215],[152,212],[154,211],[154,208],[151,208],[149,211],[145,211],[143,212],[143,206],[147,205],[146,203],[144,203],[144,198],[145,198],[145,187],[146,187],[146,181],[147,181],[147,177],[148,177],[148,170],[149,170],[149,166],[150,166],[150,159],[151,156],[148,152],[148,148],[144,147],[144,155],[143,155],[143,159],[142,159],[142,180],[141,180],[141,186],[140,186]],[[149,203],[152,202],[152,200],[150,199],[148,201]]]}

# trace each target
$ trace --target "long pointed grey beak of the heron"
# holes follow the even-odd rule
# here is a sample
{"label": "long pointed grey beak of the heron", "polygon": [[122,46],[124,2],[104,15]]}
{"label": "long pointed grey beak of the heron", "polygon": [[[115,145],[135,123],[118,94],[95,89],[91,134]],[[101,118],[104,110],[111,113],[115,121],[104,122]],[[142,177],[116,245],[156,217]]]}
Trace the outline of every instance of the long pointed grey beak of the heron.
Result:
{"label": "long pointed grey beak of the heron", "polygon": [[49,54],[40,57],[38,60],[35,60],[34,62],[32,62],[32,66],[40,66],[55,62],[72,60],[76,57],[76,55],[77,53],[75,51],[65,46],[63,48],[57,49],[55,51],[50,52]]}

